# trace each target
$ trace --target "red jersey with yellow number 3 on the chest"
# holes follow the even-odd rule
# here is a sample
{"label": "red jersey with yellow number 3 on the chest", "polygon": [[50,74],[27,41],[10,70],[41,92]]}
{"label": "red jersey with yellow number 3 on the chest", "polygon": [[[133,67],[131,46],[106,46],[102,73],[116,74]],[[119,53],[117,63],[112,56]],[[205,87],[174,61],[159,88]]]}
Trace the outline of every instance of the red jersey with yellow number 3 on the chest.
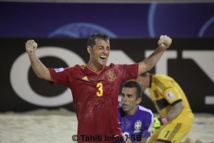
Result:
{"label": "red jersey with yellow number 3 on the chest", "polygon": [[118,94],[122,82],[137,78],[138,64],[105,66],[100,72],[86,65],[49,69],[53,82],[71,89],[78,119],[78,142],[112,142],[121,137]]}

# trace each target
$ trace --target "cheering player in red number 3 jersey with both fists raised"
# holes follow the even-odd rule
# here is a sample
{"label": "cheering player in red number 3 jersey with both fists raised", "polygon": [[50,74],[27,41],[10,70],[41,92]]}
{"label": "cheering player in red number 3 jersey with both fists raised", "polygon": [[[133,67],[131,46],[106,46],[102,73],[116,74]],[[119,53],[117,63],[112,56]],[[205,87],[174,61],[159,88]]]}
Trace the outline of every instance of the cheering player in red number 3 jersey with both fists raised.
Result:
{"label": "cheering player in red number 3 jersey with both fists raised", "polygon": [[78,120],[78,143],[123,143],[117,108],[120,85],[153,68],[171,43],[170,37],[162,35],[157,49],[143,61],[106,65],[111,51],[109,37],[96,33],[88,38],[87,64],[66,68],[47,68],[36,55],[34,40],[28,40],[25,48],[39,78],[71,89]]}

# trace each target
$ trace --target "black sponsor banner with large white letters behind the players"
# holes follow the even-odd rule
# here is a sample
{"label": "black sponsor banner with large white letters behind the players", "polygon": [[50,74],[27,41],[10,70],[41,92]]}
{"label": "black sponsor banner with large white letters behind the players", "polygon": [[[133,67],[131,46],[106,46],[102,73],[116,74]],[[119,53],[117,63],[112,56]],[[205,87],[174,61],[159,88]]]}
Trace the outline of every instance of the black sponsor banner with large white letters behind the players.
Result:
{"label": "black sponsor banner with large white letters behind the players", "polygon": [[[69,89],[39,79],[25,53],[26,38],[0,38],[0,112],[23,112],[39,108],[75,111]],[[158,39],[112,39],[108,64],[140,62],[156,47]],[[87,39],[35,39],[37,55],[47,67],[87,63]],[[168,74],[183,88],[194,112],[214,113],[214,39],[173,39],[152,73]],[[119,94],[119,93],[118,93]],[[141,103],[155,109],[144,96]]]}

